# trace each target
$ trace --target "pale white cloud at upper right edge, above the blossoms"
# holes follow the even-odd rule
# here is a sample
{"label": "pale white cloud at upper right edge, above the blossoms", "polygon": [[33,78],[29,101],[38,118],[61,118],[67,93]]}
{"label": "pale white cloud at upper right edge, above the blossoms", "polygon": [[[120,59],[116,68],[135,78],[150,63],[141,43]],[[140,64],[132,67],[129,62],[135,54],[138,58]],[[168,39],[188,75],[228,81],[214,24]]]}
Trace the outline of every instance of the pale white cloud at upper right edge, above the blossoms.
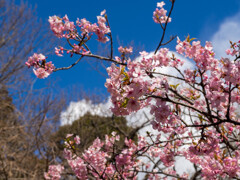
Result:
{"label": "pale white cloud at upper right edge, above the blossoms", "polygon": [[229,49],[230,40],[233,42],[240,40],[239,19],[240,13],[233,17],[226,18],[212,36],[211,41],[217,58],[227,57],[225,50]]}

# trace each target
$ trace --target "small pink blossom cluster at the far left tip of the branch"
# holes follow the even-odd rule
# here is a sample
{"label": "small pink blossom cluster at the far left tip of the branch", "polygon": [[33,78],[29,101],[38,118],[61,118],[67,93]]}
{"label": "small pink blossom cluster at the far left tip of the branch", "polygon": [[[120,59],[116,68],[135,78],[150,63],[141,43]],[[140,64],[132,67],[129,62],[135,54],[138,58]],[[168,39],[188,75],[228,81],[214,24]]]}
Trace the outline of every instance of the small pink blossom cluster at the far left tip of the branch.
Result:
{"label": "small pink blossom cluster at the far left tip of the branch", "polygon": [[39,79],[48,77],[55,69],[51,61],[46,62],[46,57],[43,54],[34,53],[25,64],[28,68],[34,68],[33,72]]}

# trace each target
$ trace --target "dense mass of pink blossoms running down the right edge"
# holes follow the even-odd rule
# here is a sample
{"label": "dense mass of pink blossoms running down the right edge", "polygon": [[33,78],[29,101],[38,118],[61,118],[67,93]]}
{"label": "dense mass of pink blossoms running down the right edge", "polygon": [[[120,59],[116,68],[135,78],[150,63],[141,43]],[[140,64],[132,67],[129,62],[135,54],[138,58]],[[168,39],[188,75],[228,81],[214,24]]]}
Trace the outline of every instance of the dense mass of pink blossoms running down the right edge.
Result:
{"label": "dense mass of pink blossoms running down the right edge", "polygon": [[[236,46],[232,46],[232,48],[234,52]],[[178,39],[176,49],[186,57],[192,58],[197,67],[196,70],[185,70],[186,81],[191,86],[195,86],[191,88],[191,94],[189,92],[186,94],[184,89],[181,91],[185,91],[185,97],[192,99],[196,110],[211,113],[211,116],[205,115],[204,118],[198,115],[199,121],[196,121],[195,125],[202,127],[202,135],[189,147],[185,157],[202,168],[202,176],[205,179],[239,177],[238,141],[229,143],[229,138],[233,138],[234,134],[239,133],[240,124],[236,111],[237,104],[239,104],[240,78],[239,61],[237,61],[239,52],[233,53],[235,60],[229,58],[217,60],[214,58],[214,52],[209,42],[202,47],[199,41],[191,43],[189,37],[183,42]],[[230,54],[228,52],[229,50],[227,54]],[[199,89],[196,88],[197,86]],[[201,96],[205,99],[200,98]],[[207,130],[205,126],[222,121],[227,123],[222,124],[221,128],[213,126],[211,131]],[[223,148],[224,146],[229,149]]]}

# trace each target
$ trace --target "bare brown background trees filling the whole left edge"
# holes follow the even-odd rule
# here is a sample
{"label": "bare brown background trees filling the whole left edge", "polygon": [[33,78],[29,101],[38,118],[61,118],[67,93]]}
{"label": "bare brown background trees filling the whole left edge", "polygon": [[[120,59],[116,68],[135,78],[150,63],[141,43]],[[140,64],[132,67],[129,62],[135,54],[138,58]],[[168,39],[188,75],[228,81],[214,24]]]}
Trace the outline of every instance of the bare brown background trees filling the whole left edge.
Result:
{"label": "bare brown background trees filling the whole left edge", "polygon": [[57,128],[64,99],[33,89],[24,69],[25,59],[49,37],[43,26],[27,3],[0,0],[0,179],[41,178],[48,166],[41,133]]}

